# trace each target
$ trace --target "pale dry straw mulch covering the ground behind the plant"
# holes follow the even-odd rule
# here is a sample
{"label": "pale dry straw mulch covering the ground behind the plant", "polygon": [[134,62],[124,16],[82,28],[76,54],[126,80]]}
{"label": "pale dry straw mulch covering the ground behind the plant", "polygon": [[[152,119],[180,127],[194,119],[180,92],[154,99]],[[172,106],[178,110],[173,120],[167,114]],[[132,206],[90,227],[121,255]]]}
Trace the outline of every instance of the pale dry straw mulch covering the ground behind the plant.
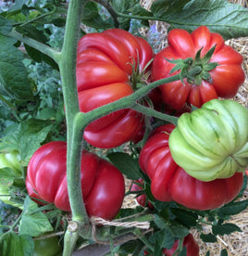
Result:
{"label": "pale dry straw mulch covering the ground behind the plant", "polygon": [[[141,1],[142,5],[147,9],[149,9],[153,2],[153,0]],[[248,0],[233,0],[229,2],[248,7]],[[151,22],[151,25],[155,25],[156,30],[159,32],[159,44],[155,45],[156,50],[158,51],[159,49],[162,49],[167,45],[167,24],[160,21],[153,21]],[[143,35],[145,35],[147,31],[143,30],[141,32],[143,33]],[[242,54],[242,68],[245,71],[246,79],[245,82],[242,84],[237,96],[235,96],[235,98],[233,99],[248,108],[248,37],[231,39],[227,41],[226,44],[231,45]],[[242,199],[246,198],[248,198],[248,187],[244,192]],[[124,207],[135,206],[136,205],[133,198],[131,196],[127,197]],[[204,243],[199,237],[199,232],[197,232],[196,230],[192,230],[193,236],[197,239],[199,243],[201,256],[204,256],[207,251],[210,252],[210,256],[218,256],[220,255],[220,251],[223,249],[228,250],[229,256],[248,256],[248,209],[242,211],[237,215],[232,216],[228,222],[237,224],[242,229],[242,232],[235,232],[230,234],[229,236],[219,236],[217,237],[217,243]],[[205,233],[211,232],[211,229],[208,226],[204,226],[204,230]]]}

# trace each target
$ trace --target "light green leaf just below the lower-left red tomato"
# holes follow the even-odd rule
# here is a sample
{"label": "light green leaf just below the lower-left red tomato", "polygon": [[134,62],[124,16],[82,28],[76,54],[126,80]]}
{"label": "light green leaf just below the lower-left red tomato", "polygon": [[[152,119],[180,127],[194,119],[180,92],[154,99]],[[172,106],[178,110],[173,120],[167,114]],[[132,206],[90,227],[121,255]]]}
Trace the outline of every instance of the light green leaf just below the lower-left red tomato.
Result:
{"label": "light green leaf just below the lower-left red tomato", "polygon": [[54,230],[43,211],[37,212],[37,209],[37,204],[31,198],[25,198],[24,213],[19,223],[20,235],[39,237]]}

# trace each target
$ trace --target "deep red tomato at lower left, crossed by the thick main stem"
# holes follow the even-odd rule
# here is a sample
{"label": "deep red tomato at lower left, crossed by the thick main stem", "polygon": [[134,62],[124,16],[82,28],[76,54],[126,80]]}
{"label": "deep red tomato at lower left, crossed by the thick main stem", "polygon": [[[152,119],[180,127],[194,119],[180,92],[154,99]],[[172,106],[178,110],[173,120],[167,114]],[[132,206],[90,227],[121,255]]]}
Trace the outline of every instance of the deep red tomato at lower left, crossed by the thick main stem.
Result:
{"label": "deep red tomato at lower left, crossed by the thick main stem", "polygon": [[[41,198],[55,203],[62,211],[70,211],[66,142],[50,142],[34,152],[28,165],[26,186],[32,198]],[[83,150],[81,191],[89,216],[111,220],[124,198],[124,178],[110,162]]]}

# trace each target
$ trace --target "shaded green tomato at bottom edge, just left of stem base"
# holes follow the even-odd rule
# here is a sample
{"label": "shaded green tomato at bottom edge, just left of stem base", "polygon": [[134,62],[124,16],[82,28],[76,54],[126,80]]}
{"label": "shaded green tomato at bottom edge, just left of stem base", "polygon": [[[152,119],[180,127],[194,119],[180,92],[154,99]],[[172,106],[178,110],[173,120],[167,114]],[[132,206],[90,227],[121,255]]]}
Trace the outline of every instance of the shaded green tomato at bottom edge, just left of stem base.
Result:
{"label": "shaded green tomato at bottom edge, just left of stem base", "polygon": [[33,256],[59,256],[62,255],[62,246],[58,237],[44,237],[33,239]]}

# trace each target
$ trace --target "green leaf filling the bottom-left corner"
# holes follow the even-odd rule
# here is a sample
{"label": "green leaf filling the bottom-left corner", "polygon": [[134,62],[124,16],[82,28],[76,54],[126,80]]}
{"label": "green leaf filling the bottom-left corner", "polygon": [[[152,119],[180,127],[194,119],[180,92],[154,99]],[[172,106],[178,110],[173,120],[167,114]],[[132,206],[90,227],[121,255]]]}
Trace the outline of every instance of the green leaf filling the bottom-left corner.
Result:
{"label": "green leaf filling the bottom-left corner", "polygon": [[34,244],[31,236],[7,232],[0,237],[1,256],[31,256]]}

